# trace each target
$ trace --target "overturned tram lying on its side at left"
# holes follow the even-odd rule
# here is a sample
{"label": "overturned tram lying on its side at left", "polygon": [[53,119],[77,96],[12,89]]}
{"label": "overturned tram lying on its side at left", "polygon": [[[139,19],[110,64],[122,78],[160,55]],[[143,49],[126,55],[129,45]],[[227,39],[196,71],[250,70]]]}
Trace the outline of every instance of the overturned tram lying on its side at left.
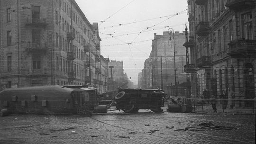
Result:
{"label": "overturned tram lying on its side at left", "polygon": [[7,108],[9,114],[77,114],[97,104],[95,88],[48,85],[0,91],[0,108]]}

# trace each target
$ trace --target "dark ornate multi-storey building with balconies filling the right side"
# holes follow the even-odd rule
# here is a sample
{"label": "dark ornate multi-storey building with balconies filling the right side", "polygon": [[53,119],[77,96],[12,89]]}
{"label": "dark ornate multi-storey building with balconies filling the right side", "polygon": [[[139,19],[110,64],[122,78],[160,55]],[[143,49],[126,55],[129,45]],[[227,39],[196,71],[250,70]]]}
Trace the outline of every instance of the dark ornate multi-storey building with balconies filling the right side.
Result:
{"label": "dark ornate multi-storey building with balconies filling the right side", "polygon": [[[235,99],[256,95],[256,0],[188,0],[192,95],[204,89],[220,95],[235,91]],[[251,107],[239,100],[236,107]]]}

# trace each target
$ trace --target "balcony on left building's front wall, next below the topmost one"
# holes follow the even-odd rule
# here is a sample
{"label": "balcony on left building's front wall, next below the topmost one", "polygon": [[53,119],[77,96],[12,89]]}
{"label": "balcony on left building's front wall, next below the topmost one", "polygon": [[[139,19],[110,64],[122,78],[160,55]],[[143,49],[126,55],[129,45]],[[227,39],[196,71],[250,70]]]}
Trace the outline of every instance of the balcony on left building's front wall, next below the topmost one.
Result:
{"label": "balcony on left building's front wall, next below the topmost one", "polygon": [[28,43],[27,52],[37,53],[37,54],[45,54],[46,53],[46,43]]}

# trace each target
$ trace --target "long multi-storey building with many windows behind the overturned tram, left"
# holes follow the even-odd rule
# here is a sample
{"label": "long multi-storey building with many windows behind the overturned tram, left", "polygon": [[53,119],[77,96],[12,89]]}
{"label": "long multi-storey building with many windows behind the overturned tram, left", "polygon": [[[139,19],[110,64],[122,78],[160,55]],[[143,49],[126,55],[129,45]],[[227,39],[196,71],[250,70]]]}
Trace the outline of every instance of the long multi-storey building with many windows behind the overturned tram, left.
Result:
{"label": "long multi-storey building with many windows behind the overturned tram, left", "polygon": [[0,1],[0,87],[101,81],[98,24],[75,0]]}

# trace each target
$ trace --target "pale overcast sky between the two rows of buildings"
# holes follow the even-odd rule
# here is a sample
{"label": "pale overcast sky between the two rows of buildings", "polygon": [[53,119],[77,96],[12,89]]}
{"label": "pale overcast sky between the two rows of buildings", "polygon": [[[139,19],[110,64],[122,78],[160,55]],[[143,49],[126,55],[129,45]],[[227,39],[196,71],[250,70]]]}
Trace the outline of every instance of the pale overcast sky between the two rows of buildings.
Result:
{"label": "pale overcast sky between the two rows of buildings", "polygon": [[75,1],[91,24],[99,23],[101,55],[123,61],[134,84],[152,50],[154,33],[163,35],[169,27],[182,32],[188,23],[187,0]]}

